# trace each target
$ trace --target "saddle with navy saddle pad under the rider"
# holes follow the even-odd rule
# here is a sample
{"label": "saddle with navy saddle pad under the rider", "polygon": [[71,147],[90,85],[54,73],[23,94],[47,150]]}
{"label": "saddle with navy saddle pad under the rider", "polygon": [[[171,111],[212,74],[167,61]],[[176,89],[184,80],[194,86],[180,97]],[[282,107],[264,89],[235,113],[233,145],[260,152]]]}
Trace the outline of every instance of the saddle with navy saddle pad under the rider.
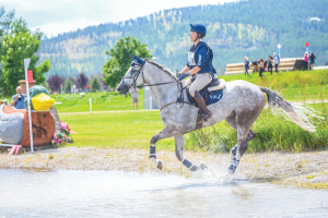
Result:
{"label": "saddle with navy saddle pad under the rider", "polygon": [[[199,94],[204,99],[207,106],[218,102],[223,96],[223,88],[225,87],[225,81],[223,78],[218,80],[214,78],[211,83],[209,83],[206,87],[203,87]],[[189,102],[194,102],[196,107],[197,104],[192,99],[189,94],[189,87],[186,88],[186,94],[188,97]]]}

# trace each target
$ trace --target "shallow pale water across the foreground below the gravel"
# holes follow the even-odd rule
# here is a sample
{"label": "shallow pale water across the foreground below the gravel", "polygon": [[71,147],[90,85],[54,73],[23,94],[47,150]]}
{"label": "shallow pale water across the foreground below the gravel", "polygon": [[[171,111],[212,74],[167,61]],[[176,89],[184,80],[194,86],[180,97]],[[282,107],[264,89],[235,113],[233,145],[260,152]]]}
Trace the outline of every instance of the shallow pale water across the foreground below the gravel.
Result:
{"label": "shallow pale water across the foreground below the gravel", "polygon": [[328,191],[159,173],[0,170],[3,217],[328,217]]}

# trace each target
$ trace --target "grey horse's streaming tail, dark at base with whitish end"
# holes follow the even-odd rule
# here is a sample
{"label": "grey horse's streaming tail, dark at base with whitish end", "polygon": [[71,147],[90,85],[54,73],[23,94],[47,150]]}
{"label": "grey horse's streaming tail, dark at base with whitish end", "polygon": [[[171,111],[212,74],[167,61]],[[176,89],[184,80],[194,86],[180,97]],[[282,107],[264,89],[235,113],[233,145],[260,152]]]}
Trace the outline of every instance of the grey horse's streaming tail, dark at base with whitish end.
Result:
{"label": "grey horse's streaming tail, dark at base with whitish end", "polygon": [[277,92],[269,88],[260,87],[260,89],[267,94],[268,106],[271,107],[273,111],[280,112],[284,118],[293,121],[303,130],[309,132],[316,131],[316,126],[311,122],[309,118],[323,118],[318,116],[318,112],[314,108],[289,102]]}

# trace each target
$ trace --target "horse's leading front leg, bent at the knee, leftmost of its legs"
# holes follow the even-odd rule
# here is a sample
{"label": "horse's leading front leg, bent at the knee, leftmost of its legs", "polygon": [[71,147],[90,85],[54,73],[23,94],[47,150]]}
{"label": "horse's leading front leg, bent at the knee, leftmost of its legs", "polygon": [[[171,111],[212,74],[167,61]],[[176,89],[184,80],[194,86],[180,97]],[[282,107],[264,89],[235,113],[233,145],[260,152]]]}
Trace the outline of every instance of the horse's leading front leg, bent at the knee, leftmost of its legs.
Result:
{"label": "horse's leading front leg, bent at the knee, leftmost of its legs", "polygon": [[154,135],[150,142],[151,146],[150,146],[150,156],[149,159],[154,162],[155,167],[157,167],[159,169],[162,170],[163,165],[160,160],[156,159],[156,143],[160,140],[163,138],[167,138],[167,137],[172,137],[175,134],[179,134],[179,130],[173,126],[166,126],[164,130],[162,130],[160,133],[157,133],[156,135]]}

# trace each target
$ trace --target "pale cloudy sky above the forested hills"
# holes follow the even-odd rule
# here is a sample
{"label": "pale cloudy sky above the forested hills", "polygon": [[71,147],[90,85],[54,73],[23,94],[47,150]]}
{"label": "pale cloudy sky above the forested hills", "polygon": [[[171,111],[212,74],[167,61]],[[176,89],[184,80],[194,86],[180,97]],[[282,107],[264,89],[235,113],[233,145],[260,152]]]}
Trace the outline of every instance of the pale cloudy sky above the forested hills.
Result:
{"label": "pale cloudy sky above the forested hills", "polygon": [[48,37],[102,23],[117,23],[165,9],[218,4],[235,0],[0,0],[4,10],[15,10],[28,28]]}

